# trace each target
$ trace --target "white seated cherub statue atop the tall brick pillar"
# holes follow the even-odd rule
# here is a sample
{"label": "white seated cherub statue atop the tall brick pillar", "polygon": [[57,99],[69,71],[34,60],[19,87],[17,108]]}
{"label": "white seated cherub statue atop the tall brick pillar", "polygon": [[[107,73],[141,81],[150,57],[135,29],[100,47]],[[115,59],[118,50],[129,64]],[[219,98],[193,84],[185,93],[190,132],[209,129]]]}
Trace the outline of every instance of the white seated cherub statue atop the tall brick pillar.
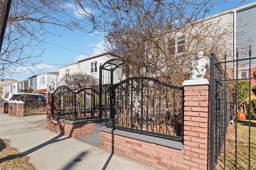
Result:
{"label": "white seated cherub statue atop the tall brick pillar", "polygon": [[193,69],[190,71],[190,80],[203,79],[210,64],[210,59],[204,56],[204,52],[199,51],[197,59],[192,62]]}

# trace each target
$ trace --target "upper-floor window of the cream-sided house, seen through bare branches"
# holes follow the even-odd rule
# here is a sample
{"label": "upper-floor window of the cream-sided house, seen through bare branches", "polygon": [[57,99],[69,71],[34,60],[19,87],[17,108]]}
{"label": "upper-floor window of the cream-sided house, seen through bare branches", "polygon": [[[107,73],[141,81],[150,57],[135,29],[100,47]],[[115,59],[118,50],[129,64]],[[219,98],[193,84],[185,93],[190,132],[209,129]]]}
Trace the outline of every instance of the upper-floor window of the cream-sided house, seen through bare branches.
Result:
{"label": "upper-floor window of the cream-sided house, seen through bare branches", "polygon": [[185,36],[171,39],[168,41],[169,55],[174,55],[176,53],[184,52]]}

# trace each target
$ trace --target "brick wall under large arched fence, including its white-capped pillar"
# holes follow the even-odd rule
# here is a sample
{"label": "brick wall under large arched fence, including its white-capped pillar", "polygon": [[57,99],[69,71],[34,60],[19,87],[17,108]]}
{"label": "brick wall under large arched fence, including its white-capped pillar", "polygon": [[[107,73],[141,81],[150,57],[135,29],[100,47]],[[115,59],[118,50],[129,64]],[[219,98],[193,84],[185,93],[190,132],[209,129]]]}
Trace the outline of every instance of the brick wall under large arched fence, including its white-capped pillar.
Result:
{"label": "brick wall under large arched fence, including its white-capped pillar", "polygon": [[100,147],[160,170],[208,170],[209,82],[206,79],[186,80],[183,86],[183,149],[157,145],[103,130],[100,131]]}

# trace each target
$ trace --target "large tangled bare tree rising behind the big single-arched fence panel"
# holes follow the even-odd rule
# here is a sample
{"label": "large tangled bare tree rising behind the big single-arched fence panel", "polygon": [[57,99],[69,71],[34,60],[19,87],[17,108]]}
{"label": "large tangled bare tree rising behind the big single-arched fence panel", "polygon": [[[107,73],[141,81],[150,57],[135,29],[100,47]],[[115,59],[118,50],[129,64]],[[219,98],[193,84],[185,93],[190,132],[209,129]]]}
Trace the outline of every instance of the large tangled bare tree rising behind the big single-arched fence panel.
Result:
{"label": "large tangled bare tree rising behind the big single-arched fence panel", "polygon": [[96,29],[106,33],[107,51],[126,64],[126,76],[151,76],[173,85],[188,79],[198,51],[210,57],[211,52],[222,55],[232,50],[224,43],[232,39],[232,25],[223,29],[218,18],[205,19],[217,3],[220,1],[77,1],[83,9],[92,6],[100,11],[94,16]]}

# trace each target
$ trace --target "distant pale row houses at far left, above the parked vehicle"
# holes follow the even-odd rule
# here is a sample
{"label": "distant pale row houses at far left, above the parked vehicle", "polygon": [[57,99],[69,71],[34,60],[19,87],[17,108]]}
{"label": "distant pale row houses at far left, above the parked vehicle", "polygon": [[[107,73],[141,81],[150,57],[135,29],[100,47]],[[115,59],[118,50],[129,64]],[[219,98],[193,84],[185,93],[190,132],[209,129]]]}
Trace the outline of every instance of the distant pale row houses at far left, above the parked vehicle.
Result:
{"label": "distant pale row houses at far left, above the parked vehicle", "polygon": [[28,91],[28,80],[22,80],[6,85],[3,88],[3,94],[8,93],[25,93]]}

